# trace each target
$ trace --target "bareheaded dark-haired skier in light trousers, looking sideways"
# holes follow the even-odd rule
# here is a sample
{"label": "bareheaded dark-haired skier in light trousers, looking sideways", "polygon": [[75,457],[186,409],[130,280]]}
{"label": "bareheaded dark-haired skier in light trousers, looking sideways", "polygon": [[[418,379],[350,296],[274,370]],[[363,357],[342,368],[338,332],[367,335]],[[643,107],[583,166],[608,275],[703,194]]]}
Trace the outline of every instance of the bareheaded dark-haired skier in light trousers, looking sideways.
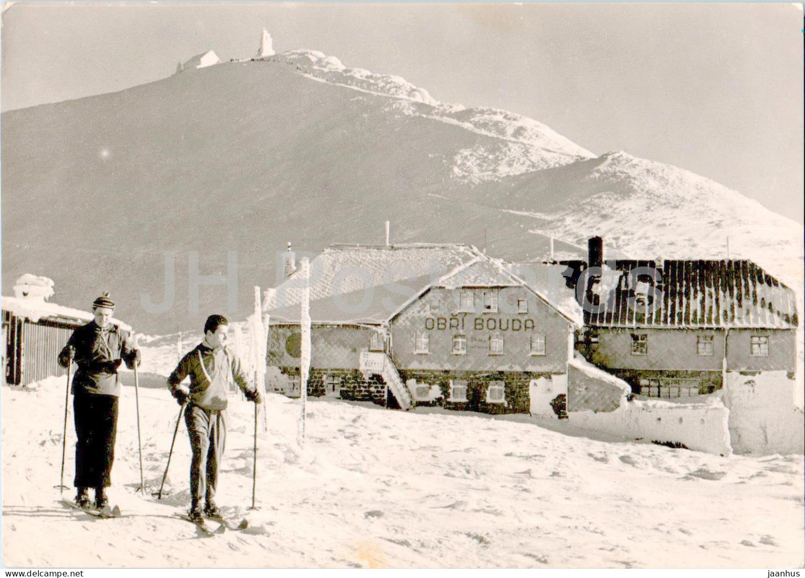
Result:
{"label": "bareheaded dark-haired skier in light trousers, looking sideways", "polygon": [[[215,504],[218,464],[226,440],[227,392],[237,384],[251,402],[260,403],[260,393],[250,386],[240,359],[226,348],[229,321],[211,315],[204,324],[204,341],[184,357],[167,378],[171,394],[180,405],[187,403],[184,423],[188,426],[190,464],[190,518],[200,522],[204,515],[220,518]],[[190,376],[190,387],[181,382]],[[201,501],[204,500],[204,510]]]}

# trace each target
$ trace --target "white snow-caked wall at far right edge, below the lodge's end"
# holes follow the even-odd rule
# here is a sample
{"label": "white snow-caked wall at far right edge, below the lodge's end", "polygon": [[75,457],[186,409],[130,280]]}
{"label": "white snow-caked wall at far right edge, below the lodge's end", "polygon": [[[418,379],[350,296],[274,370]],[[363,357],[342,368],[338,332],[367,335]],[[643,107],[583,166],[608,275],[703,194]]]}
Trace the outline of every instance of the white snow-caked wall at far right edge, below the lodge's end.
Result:
{"label": "white snow-caked wall at far right edge, below the lodge's end", "polygon": [[785,371],[729,372],[721,393],[729,408],[729,433],[739,453],[805,452],[803,410],[794,404],[795,380]]}

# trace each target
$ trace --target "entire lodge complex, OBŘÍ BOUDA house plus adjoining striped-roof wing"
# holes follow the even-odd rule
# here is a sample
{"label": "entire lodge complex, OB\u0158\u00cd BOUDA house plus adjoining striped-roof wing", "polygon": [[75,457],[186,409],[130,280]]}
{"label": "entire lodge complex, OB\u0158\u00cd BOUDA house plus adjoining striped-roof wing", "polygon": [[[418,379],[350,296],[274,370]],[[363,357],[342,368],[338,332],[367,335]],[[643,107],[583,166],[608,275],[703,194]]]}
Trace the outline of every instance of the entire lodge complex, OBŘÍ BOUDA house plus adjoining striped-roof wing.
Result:
{"label": "entire lodge complex, OB\u0158\u00cd BOUDA house plus adjoining striped-roof wing", "polygon": [[[299,394],[303,279],[290,251],[286,270],[266,299],[268,365],[275,389]],[[310,286],[311,395],[561,414],[613,411],[624,390],[692,398],[728,374],[795,372],[794,291],[747,260],[605,261],[600,237],[586,261],[543,263],[333,245],[312,259]]]}

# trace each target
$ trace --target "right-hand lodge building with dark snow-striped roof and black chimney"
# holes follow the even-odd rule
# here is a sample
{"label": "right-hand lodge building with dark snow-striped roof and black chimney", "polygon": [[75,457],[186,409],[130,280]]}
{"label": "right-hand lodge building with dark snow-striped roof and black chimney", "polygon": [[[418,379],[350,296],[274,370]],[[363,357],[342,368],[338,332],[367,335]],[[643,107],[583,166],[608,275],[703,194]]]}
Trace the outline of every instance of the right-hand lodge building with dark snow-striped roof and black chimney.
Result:
{"label": "right-hand lodge building with dark snow-striped roof and black chimney", "polygon": [[[578,349],[628,382],[635,394],[676,398],[709,394],[730,373],[796,369],[796,296],[748,260],[615,260],[601,237],[588,263],[565,262],[587,279]],[[575,286],[575,283],[574,283]]]}

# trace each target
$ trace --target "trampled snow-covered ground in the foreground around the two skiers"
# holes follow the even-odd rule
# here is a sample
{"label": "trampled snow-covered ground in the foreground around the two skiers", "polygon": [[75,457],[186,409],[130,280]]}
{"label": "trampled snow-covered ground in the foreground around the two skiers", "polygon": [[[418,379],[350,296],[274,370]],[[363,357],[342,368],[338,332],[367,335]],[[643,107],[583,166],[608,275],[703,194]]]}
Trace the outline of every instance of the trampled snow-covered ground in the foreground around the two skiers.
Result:
{"label": "trampled snow-covered ground in the foreground around the two skiers", "polygon": [[[2,388],[2,561],[11,567],[785,568],[803,562],[803,456],[723,458],[550,431],[527,416],[390,411],[268,394],[258,427],[260,510],[251,502],[254,406],[230,403],[218,502],[250,529],[199,538],[186,510],[189,444],[159,380],[124,387],[110,497],[99,520],[57,502],[64,378]],[[68,427],[65,480],[75,434]],[[73,490],[65,490],[72,497]]]}

